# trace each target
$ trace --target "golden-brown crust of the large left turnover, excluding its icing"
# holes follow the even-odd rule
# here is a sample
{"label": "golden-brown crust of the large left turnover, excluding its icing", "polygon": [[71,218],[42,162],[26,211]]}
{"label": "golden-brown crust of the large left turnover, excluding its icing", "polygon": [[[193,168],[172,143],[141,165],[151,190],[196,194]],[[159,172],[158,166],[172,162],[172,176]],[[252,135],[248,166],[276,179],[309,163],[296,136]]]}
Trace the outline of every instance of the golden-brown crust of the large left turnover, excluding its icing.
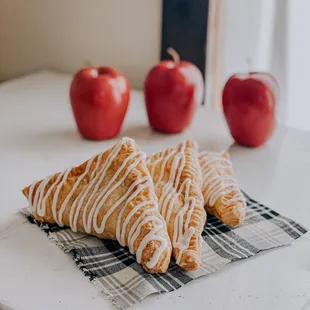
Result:
{"label": "golden-brown crust of the large left turnover, excluding its icing", "polygon": [[[65,226],[71,226],[72,218],[74,218],[74,216],[71,218],[70,221],[70,211],[74,210],[72,208],[77,209],[80,202],[81,208],[79,211],[76,212],[76,228],[77,231],[86,232],[87,229],[85,229],[85,222],[87,222],[88,219],[92,219],[91,212],[93,212],[92,210],[95,210],[96,206],[98,206],[98,204],[103,201],[103,197],[106,197],[105,202],[102,207],[98,208],[98,216],[96,217],[96,220],[94,220],[96,221],[98,227],[101,226],[102,220],[108,214],[109,210],[112,210],[111,208],[115,206],[115,203],[120,201],[120,199],[122,199],[122,197],[124,197],[124,195],[127,193],[127,199],[123,199],[123,201],[121,201],[118,207],[116,207],[115,210],[107,217],[104,231],[98,232],[94,228],[93,221],[90,221],[89,231],[90,234],[102,239],[117,240],[117,220],[120,212],[123,212],[120,221],[120,223],[123,223],[127,218],[127,215],[135,207],[137,207],[138,204],[144,202],[144,205],[142,207],[136,208],[136,212],[132,212],[133,215],[131,216],[131,218],[128,217],[129,221],[124,233],[125,246],[129,246],[129,231],[143,212],[145,213],[145,216],[153,216],[157,219],[162,220],[162,217],[158,212],[158,207],[156,210],[156,205],[158,202],[157,200],[154,201],[154,197],[156,199],[156,195],[154,193],[152,182],[139,181],[141,179],[151,179],[145,163],[145,154],[141,153],[139,147],[131,139],[128,139],[121,144],[121,147],[118,153],[116,153],[116,156],[113,157],[110,166],[108,166],[108,168],[105,170],[103,169],[104,165],[108,163],[109,155],[111,155],[111,153],[116,149],[116,147],[117,145],[107,150],[103,154],[97,155],[94,159],[90,159],[83,164],[72,168],[69,171],[67,178],[65,177],[65,173],[56,173],[51,176],[50,179],[36,182],[33,186],[31,197],[29,197],[31,187],[28,186],[24,188],[23,193],[27,198],[30,198],[29,200],[31,204],[37,204],[34,205],[33,208],[34,217],[41,222],[48,222],[52,224],[56,223],[57,221],[55,221],[53,215],[53,200],[55,200],[55,197],[57,198],[55,200],[56,211],[54,212],[56,212],[59,218],[61,217],[60,212],[62,204],[66,202],[68,195],[71,193],[70,199],[67,199],[68,201],[65,209],[62,210],[62,222]],[[132,158],[129,159],[129,156],[132,156]],[[137,161],[137,158],[139,158],[139,156],[142,157],[140,160]],[[110,156],[110,158],[112,157]],[[120,167],[124,162],[125,164],[123,165],[123,169],[120,170]],[[129,167],[132,168],[129,169]],[[115,187],[113,191],[110,192],[109,195],[107,195],[107,186],[111,179],[115,176],[116,178],[110,184],[109,188],[116,184],[116,182],[121,182],[117,187]],[[78,180],[80,181],[78,182]],[[61,182],[63,182],[62,186],[60,186]],[[134,183],[137,185],[133,186]],[[76,184],[78,184],[78,186],[76,186]],[[39,187],[42,185],[45,185],[45,188],[44,190],[41,189],[40,191]],[[76,186],[75,189],[74,186]],[[140,190],[140,188],[142,189]],[[59,191],[58,196],[57,190]],[[46,198],[46,212],[43,215],[40,215],[40,212],[38,212],[38,201],[40,199],[40,195],[37,195],[37,199],[35,201],[36,193],[41,193],[42,197]],[[137,194],[134,196],[134,193]],[[82,199],[82,197],[84,197],[84,199]],[[129,197],[131,197],[132,199],[130,199]],[[158,221],[150,220],[147,221],[145,224],[141,225],[140,233],[138,234],[137,238],[133,243],[135,252],[138,250],[145,236],[147,236],[154,228],[157,228],[157,222]],[[165,225],[157,230],[156,236],[161,237],[161,240],[165,240],[167,244],[167,246],[161,252],[157,264],[151,268],[147,267],[147,263],[153,257],[154,252],[161,246],[161,241],[150,240],[149,242],[147,242],[141,254],[141,264],[143,268],[146,269],[148,272],[152,273],[165,272],[168,268],[171,255],[171,244]]]}

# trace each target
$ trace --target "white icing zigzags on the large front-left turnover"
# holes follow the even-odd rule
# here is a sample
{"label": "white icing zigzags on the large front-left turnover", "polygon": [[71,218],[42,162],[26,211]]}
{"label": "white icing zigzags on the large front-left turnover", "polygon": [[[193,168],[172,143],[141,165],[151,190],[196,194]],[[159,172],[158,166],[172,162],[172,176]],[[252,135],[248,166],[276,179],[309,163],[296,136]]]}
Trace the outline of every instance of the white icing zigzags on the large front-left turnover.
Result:
{"label": "white icing zigzags on the large front-left turnover", "polygon": [[[166,223],[158,213],[158,203],[155,194],[152,195],[150,200],[143,201],[135,205],[132,208],[132,210],[128,212],[125,219],[122,218],[126,208],[133,199],[135,199],[147,187],[151,187],[153,189],[153,182],[151,177],[147,175],[139,178],[130,185],[127,191],[121,197],[119,197],[119,199],[115,201],[108,210],[105,210],[103,208],[109,197],[113,194],[113,192],[118,187],[121,187],[123,185],[130,172],[133,169],[135,169],[137,165],[146,158],[146,155],[143,152],[131,153],[123,161],[122,165],[120,165],[120,167],[114,173],[109,182],[104,186],[102,186],[102,188],[100,188],[102,182],[105,179],[105,175],[109,167],[111,166],[115,157],[120,152],[122,145],[129,140],[131,139],[128,138],[121,139],[118,142],[118,144],[116,144],[116,146],[113,148],[111,153],[108,155],[105,162],[103,163],[101,162],[103,154],[97,156],[97,162],[90,175],[88,184],[83,188],[82,192],[79,193],[78,197],[76,197],[76,199],[73,201],[70,207],[69,225],[73,231],[77,231],[78,218],[82,215],[82,225],[87,233],[91,233],[94,231],[96,234],[103,234],[105,231],[106,222],[109,219],[110,215],[114,211],[116,211],[117,208],[119,208],[116,222],[116,239],[122,246],[125,246],[126,229],[128,227],[129,222],[133,219],[133,216],[137,212],[139,212],[141,208],[150,206],[149,208],[141,212],[141,214],[135,220],[135,222],[132,223],[132,226],[127,236],[127,244],[130,252],[132,254],[136,254],[137,262],[141,263],[142,253],[147,244],[150,241],[160,242],[160,246],[155,250],[152,258],[146,263],[146,266],[151,269],[158,263],[161,254],[168,247],[167,240],[164,237],[158,235],[158,232],[166,227]],[[46,193],[44,193],[45,188],[49,183],[51,176],[43,180],[40,183],[39,187],[37,188],[34,197],[32,196],[36,183],[33,183],[29,189],[29,196],[28,196],[28,200],[30,206],[32,207],[33,212],[37,212],[38,215],[41,217],[46,215],[46,199],[54,190],[54,197],[52,201],[51,211],[55,222],[59,226],[63,226],[64,225],[63,214],[68,207],[70,198],[78,188],[79,184],[85,179],[86,176],[88,176],[95,159],[96,157],[88,161],[85,171],[76,179],[75,184],[73,185],[72,189],[67,194],[67,196],[65,197],[64,201],[60,206],[58,203],[59,193],[61,192],[64,183],[67,181],[71,169],[67,169],[63,173],[59,173],[55,182],[50,186],[50,188],[46,191]],[[129,164],[129,162],[132,163]],[[123,172],[123,175],[122,177],[119,178],[121,172]],[[117,181],[118,178],[119,180]],[[99,188],[100,193],[98,194]],[[122,207],[120,207],[121,204],[124,202],[125,204]],[[105,212],[105,214],[102,214],[103,212]],[[158,216],[154,215],[156,213],[158,213]],[[102,217],[101,223],[98,223],[99,214]],[[138,245],[137,250],[135,251],[134,243],[139,237],[143,225],[149,222],[153,223],[152,226],[153,228],[143,237],[143,239],[140,241],[140,244]]]}

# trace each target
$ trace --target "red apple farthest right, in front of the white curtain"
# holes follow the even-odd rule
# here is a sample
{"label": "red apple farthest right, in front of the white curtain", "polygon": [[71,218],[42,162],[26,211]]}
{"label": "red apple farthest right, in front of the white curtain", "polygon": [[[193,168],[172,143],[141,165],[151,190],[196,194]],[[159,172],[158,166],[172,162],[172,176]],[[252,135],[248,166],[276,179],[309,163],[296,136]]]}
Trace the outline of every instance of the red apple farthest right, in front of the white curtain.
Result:
{"label": "red apple farthest right, in front of the white curtain", "polygon": [[233,75],[225,84],[222,103],[234,140],[241,145],[263,145],[275,128],[278,85],[269,73]]}

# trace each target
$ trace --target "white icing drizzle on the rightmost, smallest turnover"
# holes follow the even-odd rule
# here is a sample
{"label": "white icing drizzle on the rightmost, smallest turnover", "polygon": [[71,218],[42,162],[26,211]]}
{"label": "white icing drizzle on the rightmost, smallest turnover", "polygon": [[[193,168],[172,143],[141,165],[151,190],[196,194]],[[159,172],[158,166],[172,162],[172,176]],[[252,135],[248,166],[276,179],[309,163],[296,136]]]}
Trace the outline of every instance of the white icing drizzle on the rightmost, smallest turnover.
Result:
{"label": "white icing drizzle on the rightmost, smallest turnover", "polygon": [[[202,188],[204,189],[205,204],[213,207],[219,197],[225,197],[232,193],[232,197],[225,201],[227,205],[235,202],[245,204],[245,198],[233,176],[232,163],[229,159],[216,152],[202,152],[199,159],[203,172]],[[220,174],[219,169],[230,170],[231,173]]]}

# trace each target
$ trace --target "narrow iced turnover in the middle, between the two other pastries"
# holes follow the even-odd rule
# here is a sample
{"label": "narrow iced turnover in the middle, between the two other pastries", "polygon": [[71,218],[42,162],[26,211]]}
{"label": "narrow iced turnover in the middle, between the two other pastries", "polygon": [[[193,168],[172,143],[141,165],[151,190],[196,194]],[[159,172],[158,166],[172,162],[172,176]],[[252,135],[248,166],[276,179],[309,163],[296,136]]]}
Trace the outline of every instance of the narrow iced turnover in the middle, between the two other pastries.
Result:
{"label": "narrow iced turnover in the middle, between the two other pastries", "polygon": [[147,167],[176,263],[185,270],[196,270],[200,266],[201,232],[206,221],[197,145],[185,141],[176,148],[155,153],[148,158]]}

